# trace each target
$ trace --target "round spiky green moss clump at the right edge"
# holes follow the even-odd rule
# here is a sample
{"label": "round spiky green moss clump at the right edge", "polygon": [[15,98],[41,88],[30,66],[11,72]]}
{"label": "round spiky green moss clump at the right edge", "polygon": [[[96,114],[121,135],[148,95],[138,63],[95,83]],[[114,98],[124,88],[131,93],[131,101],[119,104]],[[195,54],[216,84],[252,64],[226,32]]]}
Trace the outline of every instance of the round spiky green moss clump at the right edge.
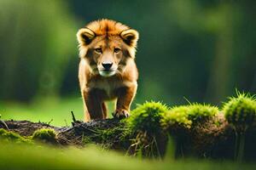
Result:
{"label": "round spiky green moss clump at the right edge", "polygon": [[256,99],[249,94],[237,94],[224,104],[224,116],[237,130],[246,130],[256,118]]}

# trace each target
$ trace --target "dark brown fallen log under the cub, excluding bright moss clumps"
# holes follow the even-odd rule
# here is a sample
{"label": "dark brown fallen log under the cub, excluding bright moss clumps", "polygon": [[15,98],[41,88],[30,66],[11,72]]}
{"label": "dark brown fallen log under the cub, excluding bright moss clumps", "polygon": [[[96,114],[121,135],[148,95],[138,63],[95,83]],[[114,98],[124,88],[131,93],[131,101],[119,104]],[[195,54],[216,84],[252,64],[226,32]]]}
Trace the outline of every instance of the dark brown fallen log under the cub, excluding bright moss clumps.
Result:
{"label": "dark brown fallen log under the cub, excluding bright moss clumps", "polygon": [[[57,143],[86,147],[86,144],[100,144],[115,150],[130,150],[133,137],[123,138],[125,124],[118,119],[97,120],[91,122],[73,122],[71,127],[54,127],[43,122],[4,121],[9,131],[21,136],[32,136],[42,128],[52,128],[57,133]],[[1,128],[6,128],[3,123]],[[247,130],[245,144],[245,158],[256,159],[256,128]],[[208,157],[213,159],[233,159],[236,148],[236,133],[233,127],[218,114],[214,119],[198,122],[191,128],[173,126],[166,132],[171,134],[176,144],[177,157]],[[161,136],[161,138],[166,138]],[[158,146],[165,153],[166,140],[157,139]]]}

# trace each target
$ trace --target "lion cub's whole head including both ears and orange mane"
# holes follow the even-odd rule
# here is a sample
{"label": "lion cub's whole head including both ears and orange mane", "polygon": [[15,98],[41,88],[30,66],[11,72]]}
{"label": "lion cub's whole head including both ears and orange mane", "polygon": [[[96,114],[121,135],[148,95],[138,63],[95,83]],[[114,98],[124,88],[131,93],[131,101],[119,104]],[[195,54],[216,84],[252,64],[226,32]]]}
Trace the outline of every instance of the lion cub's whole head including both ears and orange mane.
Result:
{"label": "lion cub's whole head including both ears and orange mane", "polygon": [[78,34],[80,57],[87,59],[92,74],[111,77],[134,59],[138,33],[112,20],[90,23]]}

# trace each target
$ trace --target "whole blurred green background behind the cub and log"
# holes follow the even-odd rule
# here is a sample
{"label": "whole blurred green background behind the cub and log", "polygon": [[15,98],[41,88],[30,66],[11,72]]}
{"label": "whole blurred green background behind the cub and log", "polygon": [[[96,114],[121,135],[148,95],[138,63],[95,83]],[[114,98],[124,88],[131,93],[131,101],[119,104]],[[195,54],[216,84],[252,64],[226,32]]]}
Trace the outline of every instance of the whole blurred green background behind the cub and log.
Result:
{"label": "whole blurred green background behind the cub and log", "polygon": [[70,111],[83,118],[75,35],[102,18],[140,32],[134,104],[221,105],[236,88],[256,94],[255,7],[253,0],[0,0],[0,114],[61,126]]}

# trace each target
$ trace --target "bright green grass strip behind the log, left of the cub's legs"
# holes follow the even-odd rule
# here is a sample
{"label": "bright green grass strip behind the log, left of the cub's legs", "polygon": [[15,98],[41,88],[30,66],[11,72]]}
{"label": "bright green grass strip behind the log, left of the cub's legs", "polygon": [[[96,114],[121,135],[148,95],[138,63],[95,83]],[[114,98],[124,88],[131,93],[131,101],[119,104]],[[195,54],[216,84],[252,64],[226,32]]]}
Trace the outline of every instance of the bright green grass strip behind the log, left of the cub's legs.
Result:
{"label": "bright green grass strip behind the log, left of the cub's legs", "polygon": [[[108,103],[109,113],[113,111],[113,103]],[[70,126],[71,111],[77,120],[84,120],[83,101],[80,97],[64,99],[49,98],[38,100],[32,104],[0,101],[0,114],[3,120],[27,120],[32,122],[50,122],[55,126]],[[108,114],[112,117],[111,114]]]}

